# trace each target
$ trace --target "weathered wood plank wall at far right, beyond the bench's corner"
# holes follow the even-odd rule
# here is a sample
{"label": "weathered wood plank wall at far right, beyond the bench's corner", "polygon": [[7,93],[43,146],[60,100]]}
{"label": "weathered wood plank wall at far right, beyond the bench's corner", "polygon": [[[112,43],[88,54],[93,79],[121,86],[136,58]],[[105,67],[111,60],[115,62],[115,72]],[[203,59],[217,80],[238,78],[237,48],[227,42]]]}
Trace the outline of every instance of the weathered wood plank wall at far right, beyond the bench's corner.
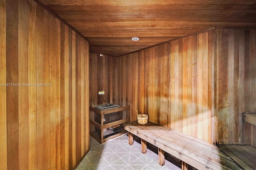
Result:
{"label": "weathered wood plank wall at far right, beyond the bench's corner", "polygon": [[242,112],[256,110],[256,30],[216,31],[216,142],[251,144]]}

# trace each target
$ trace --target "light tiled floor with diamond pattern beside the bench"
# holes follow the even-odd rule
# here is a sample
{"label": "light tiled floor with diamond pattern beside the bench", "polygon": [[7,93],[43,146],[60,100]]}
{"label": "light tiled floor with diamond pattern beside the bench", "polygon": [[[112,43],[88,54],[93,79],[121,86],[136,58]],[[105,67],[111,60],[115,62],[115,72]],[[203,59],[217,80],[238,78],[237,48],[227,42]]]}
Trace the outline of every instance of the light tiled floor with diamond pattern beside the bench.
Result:
{"label": "light tiled floor with diamond pattern beside the bench", "polygon": [[[154,160],[150,151],[147,156],[138,149],[137,142],[128,144],[128,136],[124,134],[103,144],[90,137],[90,151],[76,170],[169,170],[180,169],[166,162],[164,166]],[[134,147],[135,146],[135,147]],[[157,156],[157,155],[156,155]],[[153,158],[153,159],[152,159]],[[158,156],[157,156],[158,158]]]}

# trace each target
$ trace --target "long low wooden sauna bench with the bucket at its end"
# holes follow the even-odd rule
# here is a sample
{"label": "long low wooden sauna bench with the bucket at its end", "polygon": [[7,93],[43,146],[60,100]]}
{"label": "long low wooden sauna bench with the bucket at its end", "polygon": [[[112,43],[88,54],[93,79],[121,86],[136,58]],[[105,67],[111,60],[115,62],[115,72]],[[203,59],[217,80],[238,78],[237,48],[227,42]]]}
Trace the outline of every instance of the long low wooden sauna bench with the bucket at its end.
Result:
{"label": "long low wooden sauna bench with the bucket at its end", "polygon": [[147,151],[147,142],[158,147],[159,164],[164,164],[164,152],[175,156],[182,161],[182,169],[188,165],[199,170],[239,170],[241,169],[230,156],[218,146],[204,142],[176,130],[148,122],[140,125],[136,121],[127,123],[124,129],[129,132],[128,142],[133,144],[133,135],[141,138],[142,152]]}

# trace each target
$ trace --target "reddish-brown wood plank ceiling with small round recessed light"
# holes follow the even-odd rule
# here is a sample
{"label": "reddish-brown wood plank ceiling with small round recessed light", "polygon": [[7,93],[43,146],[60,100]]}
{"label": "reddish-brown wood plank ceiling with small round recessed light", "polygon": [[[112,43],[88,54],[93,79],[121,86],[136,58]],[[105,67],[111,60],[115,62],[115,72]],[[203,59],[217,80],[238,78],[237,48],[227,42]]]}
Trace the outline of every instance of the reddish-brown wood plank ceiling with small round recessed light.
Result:
{"label": "reddish-brown wood plank ceiling with small round recessed light", "polygon": [[112,56],[213,26],[256,26],[256,0],[37,1],[86,37],[90,51]]}

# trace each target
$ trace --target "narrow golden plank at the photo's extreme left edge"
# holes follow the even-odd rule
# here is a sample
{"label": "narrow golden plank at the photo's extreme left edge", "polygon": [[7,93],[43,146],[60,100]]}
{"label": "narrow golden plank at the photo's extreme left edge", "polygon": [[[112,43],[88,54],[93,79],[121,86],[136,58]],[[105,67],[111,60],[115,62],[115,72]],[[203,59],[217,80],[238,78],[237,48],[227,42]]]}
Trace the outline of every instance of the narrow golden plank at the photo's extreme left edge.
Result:
{"label": "narrow golden plank at the photo's extreme left edge", "polygon": [[[0,1],[0,83],[6,83],[6,1]],[[6,87],[0,86],[0,169],[7,169]],[[22,150],[21,150],[22,152]]]}

